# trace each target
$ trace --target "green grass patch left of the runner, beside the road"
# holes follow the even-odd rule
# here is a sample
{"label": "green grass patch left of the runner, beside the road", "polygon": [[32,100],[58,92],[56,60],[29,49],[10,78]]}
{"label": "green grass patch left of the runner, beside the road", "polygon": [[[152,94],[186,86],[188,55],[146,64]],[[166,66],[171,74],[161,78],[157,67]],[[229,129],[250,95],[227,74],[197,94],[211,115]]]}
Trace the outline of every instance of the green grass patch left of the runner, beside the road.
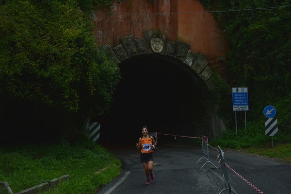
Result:
{"label": "green grass patch left of the runner, beside the road", "polygon": [[70,180],[47,193],[94,193],[118,176],[120,167],[119,160],[93,141],[0,147],[0,180],[8,182],[14,193],[63,175]]}

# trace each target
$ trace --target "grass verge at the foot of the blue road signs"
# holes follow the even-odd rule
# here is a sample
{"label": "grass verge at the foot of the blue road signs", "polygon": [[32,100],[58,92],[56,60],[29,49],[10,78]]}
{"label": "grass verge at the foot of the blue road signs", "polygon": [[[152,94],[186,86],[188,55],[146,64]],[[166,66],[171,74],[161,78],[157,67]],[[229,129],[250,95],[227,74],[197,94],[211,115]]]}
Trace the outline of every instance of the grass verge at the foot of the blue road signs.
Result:
{"label": "grass verge at the foot of the blue road signs", "polygon": [[219,145],[222,149],[260,155],[276,159],[283,163],[291,163],[291,135],[279,131],[273,137],[265,136],[265,130],[257,123],[248,123],[247,129],[226,130],[226,132],[210,141],[211,146]]}

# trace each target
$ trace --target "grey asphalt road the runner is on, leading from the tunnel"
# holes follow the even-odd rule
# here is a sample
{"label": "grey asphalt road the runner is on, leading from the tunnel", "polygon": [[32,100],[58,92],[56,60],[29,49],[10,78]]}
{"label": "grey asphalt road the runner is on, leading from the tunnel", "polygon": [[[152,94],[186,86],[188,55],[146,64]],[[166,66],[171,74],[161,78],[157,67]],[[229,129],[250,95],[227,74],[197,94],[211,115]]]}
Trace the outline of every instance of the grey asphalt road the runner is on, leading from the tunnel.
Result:
{"label": "grey asphalt road the runner is on, leading from the tunnel", "polygon": [[[159,144],[154,151],[155,180],[150,185],[145,185],[146,176],[135,144],[108,149],[123,161],[123,172],[97,194],[219,194],[226,188],[221,164],[217,161],[218,151],[211,147],[210,163],[201,159],[202,147],[199,145],[175,141],[167,145]],[[260,191],[260,194],[291,194],[291,165],[226,151],[224,158],[232,169],[226,167],[234,193],[258,194]],[[229,190],[222,194],[229,194]]]}

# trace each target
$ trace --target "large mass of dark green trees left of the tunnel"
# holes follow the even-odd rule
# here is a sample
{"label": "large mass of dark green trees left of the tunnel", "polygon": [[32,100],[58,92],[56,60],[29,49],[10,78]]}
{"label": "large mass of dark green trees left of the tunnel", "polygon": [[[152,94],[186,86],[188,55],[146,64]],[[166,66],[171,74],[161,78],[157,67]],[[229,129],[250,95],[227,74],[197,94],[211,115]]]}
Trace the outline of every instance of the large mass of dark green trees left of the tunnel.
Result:
{"label": "large mass of dark green trees left of the tunnel", "polygon": [[86,118],[109,110],[120,76],[90,16],[112,1],[0,3],[0,142],[76,140]]}

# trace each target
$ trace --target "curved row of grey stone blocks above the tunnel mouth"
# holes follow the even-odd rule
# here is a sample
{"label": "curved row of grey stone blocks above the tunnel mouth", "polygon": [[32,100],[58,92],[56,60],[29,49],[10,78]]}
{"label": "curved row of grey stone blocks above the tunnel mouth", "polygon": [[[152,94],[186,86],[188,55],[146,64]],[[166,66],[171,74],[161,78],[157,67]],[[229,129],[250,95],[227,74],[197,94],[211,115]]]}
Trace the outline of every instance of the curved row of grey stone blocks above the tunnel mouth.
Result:
{"label": "curved row of grey stone blocks above the tunnel mouth", "polygon": [[[106,45],[102,50],[107,51],[108,55],[116,63],[129,59],[130,57],[141,54],[155,54],[151,48],[151,38],[154,31],[145,31],[145,38],[134,39],[133,35],[120,38],[121,44],[111,48]],[[208,85],[208,80],[214,74],[210,68],[209,60],[202,53],[194,53],[189,50],[190,46],[180,40],[172,42],[166,39],[165,35],[162,36],[162,51],[156,54],[172,57],[189,66],[204,82]],[[210,85],[208,85],[210,86]]]}

